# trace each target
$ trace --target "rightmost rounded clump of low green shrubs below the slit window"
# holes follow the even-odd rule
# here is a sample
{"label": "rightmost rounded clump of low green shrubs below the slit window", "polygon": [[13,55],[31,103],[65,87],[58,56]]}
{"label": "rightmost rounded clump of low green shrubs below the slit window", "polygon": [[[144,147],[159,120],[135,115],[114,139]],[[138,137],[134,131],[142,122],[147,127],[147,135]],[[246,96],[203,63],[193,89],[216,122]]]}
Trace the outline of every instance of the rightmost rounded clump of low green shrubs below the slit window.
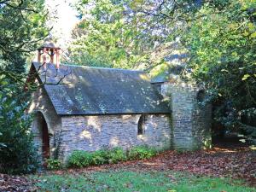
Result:
{"label": "rightmost rounded clump of low green shrubs below the slit window", "polygon": [[128,160],[144,160],[153,157],[155,154],[157,154],[157,152],[154,148],[149,148],[147,146],[137,146],[131,148],[128,151],[127,156]]}

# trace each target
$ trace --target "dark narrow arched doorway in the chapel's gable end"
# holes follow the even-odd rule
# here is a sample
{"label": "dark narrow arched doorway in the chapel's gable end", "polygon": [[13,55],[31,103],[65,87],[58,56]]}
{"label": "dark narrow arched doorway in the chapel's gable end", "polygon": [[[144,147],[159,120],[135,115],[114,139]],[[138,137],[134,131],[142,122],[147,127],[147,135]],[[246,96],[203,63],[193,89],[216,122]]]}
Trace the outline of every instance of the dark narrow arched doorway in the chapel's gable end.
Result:
{"label": "dark narrow arched doorway in the chapel's gable end", "polygon": [[39,129],[41,129],[42,137],[42,157],[43,160],[49,159],[49,132],[43,113],[38,113]]}

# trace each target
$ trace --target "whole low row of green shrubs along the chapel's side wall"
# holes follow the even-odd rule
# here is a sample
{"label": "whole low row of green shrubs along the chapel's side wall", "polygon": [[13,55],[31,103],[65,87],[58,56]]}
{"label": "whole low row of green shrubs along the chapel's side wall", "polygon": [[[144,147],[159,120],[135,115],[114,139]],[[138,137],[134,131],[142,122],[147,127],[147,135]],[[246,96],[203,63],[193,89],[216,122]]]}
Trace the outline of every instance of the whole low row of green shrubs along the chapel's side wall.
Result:
{"label": "whole low row of green shrubs along the chapel's side wall", "polygon": [[123,160],[144,160],[154,156],[155,154],[156,150],[154,148],[148,148],[146,146],[131,148],[127,153],[124,149],[119,147],[96,150],[95,152],[75,150],[68,157],[67,166],[86,167],[114,164]]}

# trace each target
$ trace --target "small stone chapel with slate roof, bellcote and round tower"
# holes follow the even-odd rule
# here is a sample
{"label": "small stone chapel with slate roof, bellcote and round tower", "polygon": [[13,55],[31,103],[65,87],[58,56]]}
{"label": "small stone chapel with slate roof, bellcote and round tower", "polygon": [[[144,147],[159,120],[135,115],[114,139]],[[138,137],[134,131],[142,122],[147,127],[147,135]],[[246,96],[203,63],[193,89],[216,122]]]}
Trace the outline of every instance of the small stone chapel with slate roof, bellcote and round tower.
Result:
{"label": "small stone chapel with slate roof, bellcote and round tower", "polygon": [[211,144],[211,106],[199,104],[204,92],[195,84],[151,80],[143,71],[60,64],[53,44],[38,49],[30,72],[37,76],[29,80],[40,85],[29,113],[42,160],[65,162],[73,150],[195,150]]}

